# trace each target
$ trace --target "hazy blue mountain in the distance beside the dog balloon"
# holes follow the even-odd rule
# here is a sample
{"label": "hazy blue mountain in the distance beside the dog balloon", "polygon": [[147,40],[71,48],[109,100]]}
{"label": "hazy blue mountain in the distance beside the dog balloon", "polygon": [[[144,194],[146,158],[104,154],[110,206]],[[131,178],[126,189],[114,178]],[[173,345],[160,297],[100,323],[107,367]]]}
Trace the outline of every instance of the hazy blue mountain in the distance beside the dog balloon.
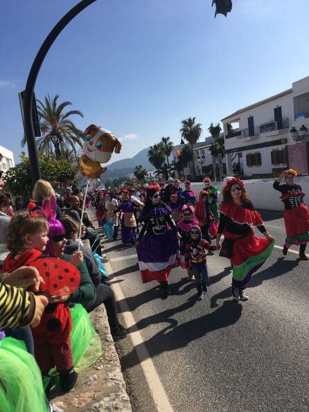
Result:
{"label": "hazy blue mountain in the distance beside the dog balloon", "polygon": [[110,165],[107,165],[107,172],[101,175],[101,181],[116,179],[117,177],[126,177],[128,174],[132,174],[135,166],[138,165],[143,165],[143,168],[147,170],[154,170],[154,167],[148,161],[148,150],[149,147],[146,147],[131,158],[114,161]]}

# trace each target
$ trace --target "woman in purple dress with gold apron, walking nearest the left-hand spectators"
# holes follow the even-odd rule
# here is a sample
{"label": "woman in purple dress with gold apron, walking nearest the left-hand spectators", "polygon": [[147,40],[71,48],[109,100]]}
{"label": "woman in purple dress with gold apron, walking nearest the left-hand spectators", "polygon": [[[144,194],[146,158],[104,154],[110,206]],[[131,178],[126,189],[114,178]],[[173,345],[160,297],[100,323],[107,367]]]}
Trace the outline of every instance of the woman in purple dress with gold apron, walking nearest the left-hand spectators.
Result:
{"label": "woman in purple dress with gold apron, walking nearest the left-hand spectators", "polygon": [[123,191],[122,195],[123,203],[116,208],[114,213],[123,212],[121,217],[121,240],[123,243],[135,244],[136,242],[136,219],[135,219],[135,209],[136,204],[129,197],[129,192],[127,190]]}

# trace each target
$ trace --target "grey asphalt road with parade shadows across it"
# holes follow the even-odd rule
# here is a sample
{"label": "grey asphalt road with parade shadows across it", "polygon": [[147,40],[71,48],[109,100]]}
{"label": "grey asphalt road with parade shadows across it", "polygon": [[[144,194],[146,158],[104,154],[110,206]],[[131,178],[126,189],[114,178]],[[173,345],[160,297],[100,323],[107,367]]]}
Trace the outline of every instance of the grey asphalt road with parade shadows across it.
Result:
{"label": "grey asphalt road with parade shadows across it", "polygon": [[[282,247],[282,215],[261,214]],[[133,247],[105,242],[119,316],[130,326],[116,348],[134,412],[308,411],[309,266],[281,249],[251,280],[249,301],[236,303],[229,260],[218,253],[208,259],[209,292],[195,301],[182,269],[164,297],[156,283],[141,283]]]}

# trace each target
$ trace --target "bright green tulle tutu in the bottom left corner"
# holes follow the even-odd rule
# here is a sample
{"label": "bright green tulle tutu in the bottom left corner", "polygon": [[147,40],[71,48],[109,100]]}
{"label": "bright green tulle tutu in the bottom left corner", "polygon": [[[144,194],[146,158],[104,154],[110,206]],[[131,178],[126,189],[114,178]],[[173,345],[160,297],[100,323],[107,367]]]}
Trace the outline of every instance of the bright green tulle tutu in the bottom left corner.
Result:
{"label": "bright green tulle tutu in the bottom left corner", "polygon": [[0,341],[0,411],[48,411],[35,358],[27,352],[24,342],[13,338]]}

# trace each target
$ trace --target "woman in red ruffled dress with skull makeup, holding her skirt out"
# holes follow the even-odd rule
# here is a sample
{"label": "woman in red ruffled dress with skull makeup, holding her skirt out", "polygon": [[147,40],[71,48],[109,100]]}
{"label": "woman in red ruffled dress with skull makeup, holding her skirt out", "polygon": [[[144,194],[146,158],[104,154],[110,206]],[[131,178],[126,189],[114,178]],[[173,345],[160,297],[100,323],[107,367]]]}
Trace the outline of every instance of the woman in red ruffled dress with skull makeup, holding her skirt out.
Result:
{"label": "woman in red ruffled dress with skull makeup, holding her skirt out", "polygon": [[[222,233],[227,242],[233,242],[231,265],[233,279],[231,292],[235,301],[247,301],[245,286],[252,275],[269,258],[274,249],[274,238],[270,236],[261,218],[254,209],[240,179],[230,179],[222,190],[222,204],[219,208],[220,222],[217,234],[217,249],[221,248]],[[252,227],[263,234],[258,238]]]}

